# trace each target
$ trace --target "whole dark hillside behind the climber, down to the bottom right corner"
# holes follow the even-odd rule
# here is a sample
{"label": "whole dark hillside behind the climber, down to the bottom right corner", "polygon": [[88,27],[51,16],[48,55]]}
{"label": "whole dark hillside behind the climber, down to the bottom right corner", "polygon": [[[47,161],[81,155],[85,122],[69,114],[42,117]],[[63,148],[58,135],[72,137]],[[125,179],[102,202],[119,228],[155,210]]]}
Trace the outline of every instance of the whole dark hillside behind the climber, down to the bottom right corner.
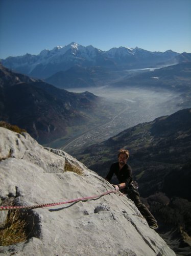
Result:
{"label": "whole dark hillside behind the climber, down to the bottom right corner", "polygon": [[[91,145],[78,160],[105,177],[117,151],[130,151],[139,193],[159,222],[159,233],[177,255],[191,248],[191,109],[138,124]],[[112,181],[117,182],[115,179]]]}

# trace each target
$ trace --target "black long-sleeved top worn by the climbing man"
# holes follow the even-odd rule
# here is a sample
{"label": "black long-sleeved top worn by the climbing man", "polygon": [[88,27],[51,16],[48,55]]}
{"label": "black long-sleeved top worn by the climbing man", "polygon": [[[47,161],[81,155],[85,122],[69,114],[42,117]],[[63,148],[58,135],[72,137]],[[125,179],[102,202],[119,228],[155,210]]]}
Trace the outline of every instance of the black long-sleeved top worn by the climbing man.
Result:
{"label": "black long-sleeved top worn by the climbing man", "polygon": [[106,176],[106,180],[110,181],[113,174],[116,175],[119,183],[125,182],[126,187],[123,190],[124,190],[124,192],[128,191],[129,190],[129,185],[132,181],[131,166],[126,163],[123,166],[123,168],[120,170],[120,166],[119,166],[118,162],[113,163],[110,167],[108,175]]}

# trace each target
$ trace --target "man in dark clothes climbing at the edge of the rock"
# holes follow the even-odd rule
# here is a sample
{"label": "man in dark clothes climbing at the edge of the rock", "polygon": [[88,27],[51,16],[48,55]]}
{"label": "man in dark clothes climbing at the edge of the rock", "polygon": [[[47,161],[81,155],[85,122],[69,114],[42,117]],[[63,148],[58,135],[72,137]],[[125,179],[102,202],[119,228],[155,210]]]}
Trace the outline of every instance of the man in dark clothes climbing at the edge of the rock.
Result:
{"label": "man in dark clothes climbing at the edge of the rock", "polygon": [[127,160],[129,158],[129,151],[121,149],[118,151],[118,162],[113,163],[110,167],[109,173],[106,176],[106,180],[110,181],[113,174],[116,175],[118,182],[120,184],[113,185],[115,190],[119,190],[126,194],[128,198],[130,198],[142,214],[147,220],[150,228],[158,229],[157,221],[154,216],[148,210],[148,208],[140,202],[139,193],[137,191],[137,187],[133,187],[132,185],[132,169],[129,164],[127,164]]}

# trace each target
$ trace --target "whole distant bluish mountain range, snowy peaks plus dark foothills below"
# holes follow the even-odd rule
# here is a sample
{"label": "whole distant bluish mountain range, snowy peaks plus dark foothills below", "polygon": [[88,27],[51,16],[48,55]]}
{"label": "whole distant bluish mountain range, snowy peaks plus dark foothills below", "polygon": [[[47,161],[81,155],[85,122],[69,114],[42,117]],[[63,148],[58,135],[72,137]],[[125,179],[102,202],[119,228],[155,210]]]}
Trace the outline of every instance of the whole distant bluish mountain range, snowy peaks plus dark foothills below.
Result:
{"label": "whole distant bluish mountain range, snowy peaks plus dark foothills below", "polygon": [[102,79],[111,81],[130,69],[173,65],[183,61],[191,61],[191,54],[171,50],[150,52],[137,47],[102,51],[71,42],[64,47],[43,50],[38,55],[8,57],[1,63],[13,71],[69,88],[99,85]]}

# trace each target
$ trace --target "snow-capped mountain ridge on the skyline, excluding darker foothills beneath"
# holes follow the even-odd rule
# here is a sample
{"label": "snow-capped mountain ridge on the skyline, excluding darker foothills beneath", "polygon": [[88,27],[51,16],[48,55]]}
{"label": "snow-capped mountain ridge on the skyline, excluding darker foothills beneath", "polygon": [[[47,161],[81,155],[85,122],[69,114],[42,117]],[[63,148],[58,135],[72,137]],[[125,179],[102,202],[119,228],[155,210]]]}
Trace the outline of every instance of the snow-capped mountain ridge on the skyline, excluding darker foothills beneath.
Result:
{"label": "snow-capped mountain ridge on the skyline, excluding darker foothills beneath", "polygon": [[150,52],[140,48],[112,48],[102,51],[92,46],[81,46],[71,42],[64,47],[42,50],[38,55],[26,54],[2,59],[2,64],[20,73],[45,79],[74,65],[82,67],[101,66],[109,69],[156,66],[163,62],[175,62],[179,53],[173,51]]}

